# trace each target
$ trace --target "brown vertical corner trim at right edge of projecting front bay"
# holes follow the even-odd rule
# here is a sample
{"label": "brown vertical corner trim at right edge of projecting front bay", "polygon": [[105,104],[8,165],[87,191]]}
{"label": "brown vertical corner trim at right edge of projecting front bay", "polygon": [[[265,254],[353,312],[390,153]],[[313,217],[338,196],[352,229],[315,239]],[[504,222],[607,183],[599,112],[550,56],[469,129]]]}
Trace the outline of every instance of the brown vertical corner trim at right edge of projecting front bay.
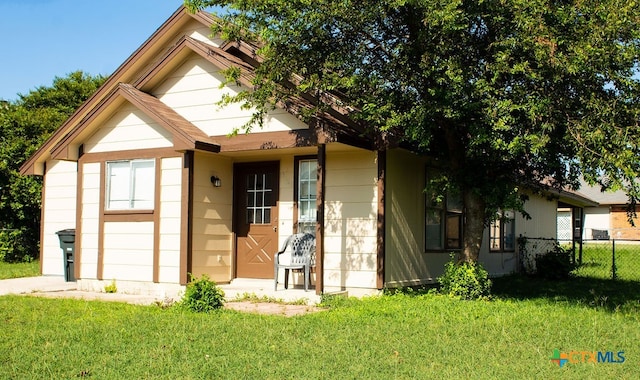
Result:
{"label": "brown vertical corner trim at right edge of projecting front bay", "polygon": [[180,284],[189,282],[192,265],[192,220],[193,220],[193,158],[192,151],[184,153],[182,161],[182,212],[180,223]]}

